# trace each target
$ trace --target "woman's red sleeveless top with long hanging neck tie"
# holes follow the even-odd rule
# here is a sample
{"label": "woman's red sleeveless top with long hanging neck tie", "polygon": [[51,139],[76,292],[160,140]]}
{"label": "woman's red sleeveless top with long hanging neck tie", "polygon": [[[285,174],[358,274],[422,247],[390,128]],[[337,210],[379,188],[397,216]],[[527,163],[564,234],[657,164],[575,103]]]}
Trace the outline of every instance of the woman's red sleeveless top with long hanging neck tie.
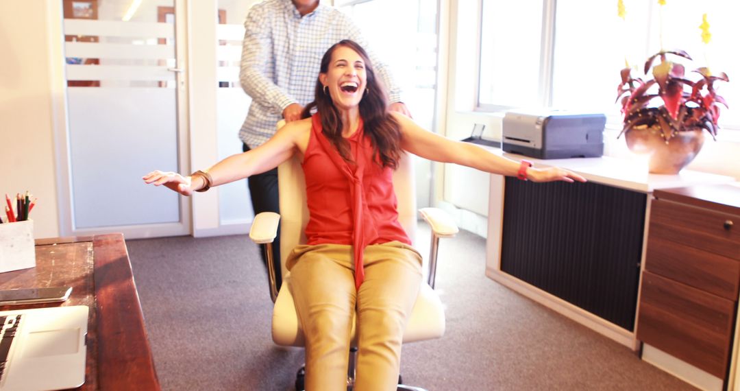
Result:
{"label": "woman's red sleeveless top with long hanging neck tie", "polygon": [[354,247],[354,281],[364,279],[363,250],[369,244],[411,240],[398,221],[393,170],[373,155],[363,121],[347,138],[354,162],[345,161],[322,133],[319,114],[312,117],[311,136],[303,157],[309,222],[308,244],[351,244]]}

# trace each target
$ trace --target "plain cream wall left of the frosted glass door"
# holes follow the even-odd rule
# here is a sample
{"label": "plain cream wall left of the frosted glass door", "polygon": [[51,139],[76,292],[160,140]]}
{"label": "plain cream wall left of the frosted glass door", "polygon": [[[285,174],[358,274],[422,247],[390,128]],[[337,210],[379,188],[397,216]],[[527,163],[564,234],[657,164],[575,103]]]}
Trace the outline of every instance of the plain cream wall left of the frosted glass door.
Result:
{"label": "plain cream wall left of the frosted glass door", "polygon": [[48,10],[47,0],[0,1],[0,194],[38,197],[36,238],[59,233]]}

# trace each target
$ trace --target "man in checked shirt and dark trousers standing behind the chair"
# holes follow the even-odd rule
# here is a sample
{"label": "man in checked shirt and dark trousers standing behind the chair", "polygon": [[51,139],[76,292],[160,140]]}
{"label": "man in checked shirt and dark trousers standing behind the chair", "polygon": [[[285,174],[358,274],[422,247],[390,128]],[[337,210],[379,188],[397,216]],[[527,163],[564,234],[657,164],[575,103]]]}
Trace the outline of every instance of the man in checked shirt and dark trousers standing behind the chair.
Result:
{"label": "man in checked shirt and dark trousers standing behind the chair", "polygon": [[[244,27],[239,80],[252,98],[239,131],[246,152],[272,137],[280,119],[300,119],[303,106],[314,100],[321,57],[329,47],[342,39],[367,45],[349,16],[319,0],[262,1],[249,10]],[[387,67],[372,53],[370,58],[388,89],[390,110],[411,116]],[[247,182],[255,214],[279,213],[277,168]],[[272,245],[278,290],[282,282],[279,238],[278,233]],[[264,253],[262,257],[266,263]]]}

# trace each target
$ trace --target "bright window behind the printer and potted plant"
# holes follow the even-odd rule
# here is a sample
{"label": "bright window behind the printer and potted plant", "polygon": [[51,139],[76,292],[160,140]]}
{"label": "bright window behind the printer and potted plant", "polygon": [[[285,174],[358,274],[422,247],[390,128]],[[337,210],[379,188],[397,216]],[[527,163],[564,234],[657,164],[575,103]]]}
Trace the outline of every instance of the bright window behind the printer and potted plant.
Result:
{"label": "bright window behind the printer and potted plant", "polygon": [[[740,104],[740,60],[733,39],[740,5],[721,0],[617,1],[482,0],[480,110],[552,107],[592,110],[619,121],[615,103],[625,61],[642,76],[645,60],[661,47],[687,51],[690,73],[708,66],[730,83],[716,83],[719,95]],[[701,40],[707,14],[712,38]],[[687,75],[688,78],[692,76]],[[724,109],[724,107],[722,107]],[[740,130],[740,111],[721,110],[720,126]]]}

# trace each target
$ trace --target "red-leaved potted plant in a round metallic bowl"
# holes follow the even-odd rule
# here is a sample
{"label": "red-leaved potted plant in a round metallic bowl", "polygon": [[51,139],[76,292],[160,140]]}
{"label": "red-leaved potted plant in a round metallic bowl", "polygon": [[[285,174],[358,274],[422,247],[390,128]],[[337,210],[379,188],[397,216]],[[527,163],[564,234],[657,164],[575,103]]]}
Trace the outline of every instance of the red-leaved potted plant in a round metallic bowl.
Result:
{"label": "red-leaved potted plant in a round metallic bowl", "polygon": [[[650,173],[679,173],[701,150],[704,130],[716,136],[719,104],[727,107],[714,87],[718,80],[730,81],[725,73],[701,67],[693,71],[696,80],[690,80],[684,66],[668,56],[691,61],[683,50],[661,50],[645,61],[645,80],[633,78],[630,67],[623,69],[617,91],[624,115],[619,136],[625,135],[633,152],[650,153]],[[660,62],[653,65],[655,59]]]}

